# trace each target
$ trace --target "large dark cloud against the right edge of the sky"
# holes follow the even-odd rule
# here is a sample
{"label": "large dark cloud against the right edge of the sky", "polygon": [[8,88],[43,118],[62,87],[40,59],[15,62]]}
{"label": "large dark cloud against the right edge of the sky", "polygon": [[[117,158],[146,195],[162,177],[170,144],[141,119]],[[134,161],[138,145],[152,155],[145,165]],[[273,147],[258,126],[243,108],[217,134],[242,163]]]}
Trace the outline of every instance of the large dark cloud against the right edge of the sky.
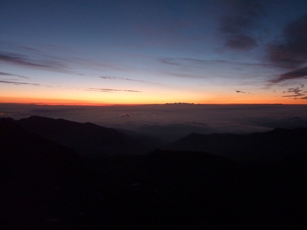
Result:
{"label": "large dark cloud against the right edge of the sky", "polygon": [[[274,41],[268,45],[269,61],[278,68],[293,69],[305,65],[307,61],[307,14],[285,26],[281,38],[281,41]],[[297,78],[299,78],[298,75]]]}

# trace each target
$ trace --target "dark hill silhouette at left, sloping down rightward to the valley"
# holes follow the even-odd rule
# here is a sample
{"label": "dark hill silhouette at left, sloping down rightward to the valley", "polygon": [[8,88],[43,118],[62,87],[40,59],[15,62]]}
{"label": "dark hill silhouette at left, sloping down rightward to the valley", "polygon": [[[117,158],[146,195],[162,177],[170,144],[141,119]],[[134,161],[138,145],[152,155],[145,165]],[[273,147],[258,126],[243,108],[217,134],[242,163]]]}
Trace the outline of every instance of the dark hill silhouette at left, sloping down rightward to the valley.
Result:
{"label": "dark hill silhouette at left, sloping down rightward to the valley", "polygon": [[153,148],[148,137],[128,135],[90,122],[79,123],[39,116],[17,122],[29,132],[71,147],[86,156],[138,154],[144,153],[146,148]]}

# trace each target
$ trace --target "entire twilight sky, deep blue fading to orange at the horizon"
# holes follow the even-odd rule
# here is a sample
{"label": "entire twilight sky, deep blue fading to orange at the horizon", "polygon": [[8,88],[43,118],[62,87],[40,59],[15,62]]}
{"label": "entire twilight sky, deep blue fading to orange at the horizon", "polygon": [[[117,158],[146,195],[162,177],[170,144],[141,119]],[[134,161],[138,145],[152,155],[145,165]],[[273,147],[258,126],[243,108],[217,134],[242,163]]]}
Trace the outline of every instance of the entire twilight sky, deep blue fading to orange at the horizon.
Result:
{"label": "entire twilight sky, deep blue fading to orange at the horizon", "polygon": [[306,99],[306,0],[0,0],[0,103]]}

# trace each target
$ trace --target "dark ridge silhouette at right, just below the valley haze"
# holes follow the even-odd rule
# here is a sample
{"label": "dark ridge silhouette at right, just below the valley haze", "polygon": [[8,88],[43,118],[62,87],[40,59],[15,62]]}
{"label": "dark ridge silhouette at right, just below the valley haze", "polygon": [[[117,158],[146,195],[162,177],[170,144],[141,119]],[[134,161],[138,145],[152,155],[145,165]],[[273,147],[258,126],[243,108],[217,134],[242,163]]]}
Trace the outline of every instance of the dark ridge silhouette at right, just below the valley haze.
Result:
{"label": "dark ridge silhouette at right, just below the valley haze", "polygon": [[248,135],[191,133],[163,149],[210,152],[235,160],[276,160],[296,152],[306,152],[307,127],[276,128]]}

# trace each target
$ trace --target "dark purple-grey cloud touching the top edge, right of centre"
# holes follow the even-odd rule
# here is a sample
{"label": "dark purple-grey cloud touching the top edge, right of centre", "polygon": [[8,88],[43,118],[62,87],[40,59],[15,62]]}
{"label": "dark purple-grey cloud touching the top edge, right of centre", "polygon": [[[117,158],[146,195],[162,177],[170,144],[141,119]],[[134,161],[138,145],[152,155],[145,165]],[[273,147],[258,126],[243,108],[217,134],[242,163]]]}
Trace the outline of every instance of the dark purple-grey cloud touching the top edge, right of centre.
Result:
{"label": "dark purple-grey cloud touching the top edge, right of centre", "polygon": [[258,27],[259,18],[265,14],[260,1],[224,0],[231,13],[219,20],[219,32],[224,46],[233,50],[251,50],[258,46],[253,30]]}

